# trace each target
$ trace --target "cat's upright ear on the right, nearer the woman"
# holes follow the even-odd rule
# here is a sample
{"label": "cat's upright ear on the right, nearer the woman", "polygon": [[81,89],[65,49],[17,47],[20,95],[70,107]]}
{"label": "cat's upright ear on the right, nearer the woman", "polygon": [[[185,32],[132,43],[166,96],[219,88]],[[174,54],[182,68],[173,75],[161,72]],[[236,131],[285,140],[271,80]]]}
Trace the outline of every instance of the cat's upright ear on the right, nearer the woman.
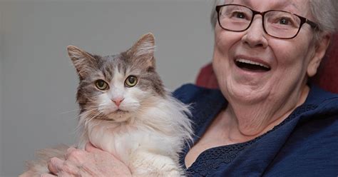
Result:
{"label": "cat's upright ear on the right, nearer the woman", "polygon": [[155,38],[151,33],[145,34],[127,51],[136,63],[155,68]]}

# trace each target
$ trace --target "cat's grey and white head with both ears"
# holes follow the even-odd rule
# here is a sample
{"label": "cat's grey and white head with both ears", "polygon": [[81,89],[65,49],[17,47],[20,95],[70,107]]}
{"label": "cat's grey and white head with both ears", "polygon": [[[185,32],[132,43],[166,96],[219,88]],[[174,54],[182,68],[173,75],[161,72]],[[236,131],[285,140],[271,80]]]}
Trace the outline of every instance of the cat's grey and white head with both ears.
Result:
{"label": "cat's grey and white head with both ears", "polygon": [[88,118],[128,121],[147,108],[156,96],[164,96],[155,72],[154,39],[146,34],[128,51],[114,56],[93,56],[69,46],[78,71],[77,100]]}

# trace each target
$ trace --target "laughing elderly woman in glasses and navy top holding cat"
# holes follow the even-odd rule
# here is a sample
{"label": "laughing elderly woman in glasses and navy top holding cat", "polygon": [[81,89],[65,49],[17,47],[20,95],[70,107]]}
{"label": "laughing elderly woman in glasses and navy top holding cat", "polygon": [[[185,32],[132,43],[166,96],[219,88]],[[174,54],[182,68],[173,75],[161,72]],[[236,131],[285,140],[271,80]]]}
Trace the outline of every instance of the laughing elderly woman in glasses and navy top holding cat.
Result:
{"label": "laughing elderly woman in glasses and navy top holding cat", "polygon": [[[212,66],[220,90],[190,84],[174,93],[194,103],[195,139],[181,156],[188,175],[338,175],[338,95],[309,83],[337,26],[337,5],[215,1]],[[90,144],[72,151],[80,153],[66,161],[91,164],[78,169],[88,176],[130,176],[128,167]],[[67,171],[62,163],[48,167]]]}

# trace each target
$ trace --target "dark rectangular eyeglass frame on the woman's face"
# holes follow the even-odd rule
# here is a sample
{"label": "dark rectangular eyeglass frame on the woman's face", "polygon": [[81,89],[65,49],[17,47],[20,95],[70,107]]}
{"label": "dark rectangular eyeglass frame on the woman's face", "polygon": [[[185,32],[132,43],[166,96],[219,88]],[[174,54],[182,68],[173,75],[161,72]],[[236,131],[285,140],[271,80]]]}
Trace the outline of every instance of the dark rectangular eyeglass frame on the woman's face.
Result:
{"label": "dark rectangular eyeglass frame on the woman's face", "polygon": [[[250,9],[252,11],[252,18],[251,18],[251,21],[250,21],[250,24],[247,26],[246,29],[243,29],[243,30],[231,30],[231,29],[226,29],[222,26],[222,24],[220,24],[220,9],[222,9],[223,6],[242,6],[242,7],[245,7],[247,9]],[[247,7],[247,6],[243,6],[243,5],[240,5],[240,4],[224,4],[224,5],[220,5],[220,6],[216,6],[216,11],[217,11],[217,20],[218,20],[218,24],[220,25],[220,27],[222,29],[225,29],[227,31],[235,31],[235,32],[242,32],[242,31],[245,31],[247,29],[250,28],[251,24],[252,24],[252,21],[253,19],[255,18],[255,15],[257,14],[260,14],[262,16],[262,26],[263,26],[263,29],[265,31],[265,33],[269,36],[272,36],[271,34],[267,33],[267,30],[265,29],[265,25],[264,25],[264,16],[267,12],[270,12],[270,11],[280,11],[280,10],[270,10],[270,11],[255,11],[255,10],[252,10],[250,7]],[[282,12],[286,12],[286,13],[289,13],[289,14],[292,14],[291,12],[289,11],[282,11]],[[318,24],[314,23],[313,21],[310,21],[309,19],[303,17],[303,16],[299,16],[297,14],[292,14],[292,15],[295,15],[297,16],[299,19],[300,19],[300,24],[299,24],[299,28],[298,28],[298,31],[297,31],[297,34],[299,33],[300,29],[302,28],[303,24],[309,24],[309,26],[311,26],[312,29],[318,29]],[[297,36],[297,34],[295,34],[295,36],[292,36],[292,37],[289,37],[289,38],[282,38],[282,37],[276,37],[276,36],[272,36],[272,37],[275,37],[277,39],[293,39]]]}

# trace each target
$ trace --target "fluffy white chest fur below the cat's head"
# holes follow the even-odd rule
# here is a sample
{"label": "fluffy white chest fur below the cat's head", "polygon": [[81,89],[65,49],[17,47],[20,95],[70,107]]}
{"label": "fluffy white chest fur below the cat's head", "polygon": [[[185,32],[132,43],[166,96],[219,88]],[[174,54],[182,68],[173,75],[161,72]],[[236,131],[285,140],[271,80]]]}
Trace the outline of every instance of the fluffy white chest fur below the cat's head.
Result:
{"label": "fluffy white chest fur below the cat's head", "polygon": [[122,123],[85,121],[88,118],[83,114],[80,118],[83,120],[80,121],[83,136],[79,147],[84,147],[90,141],[131,166],[135,174],[149,174],[151,171],[158,172],[154,176],[161,176],[161,173],[165,176],[180,176],[178,152],[183,146],[183,140],[190,136],[185,127],[190,126],[185,114],[187,107],[168,96],[166,99],[158,99],[144,110],[137,117]]}

